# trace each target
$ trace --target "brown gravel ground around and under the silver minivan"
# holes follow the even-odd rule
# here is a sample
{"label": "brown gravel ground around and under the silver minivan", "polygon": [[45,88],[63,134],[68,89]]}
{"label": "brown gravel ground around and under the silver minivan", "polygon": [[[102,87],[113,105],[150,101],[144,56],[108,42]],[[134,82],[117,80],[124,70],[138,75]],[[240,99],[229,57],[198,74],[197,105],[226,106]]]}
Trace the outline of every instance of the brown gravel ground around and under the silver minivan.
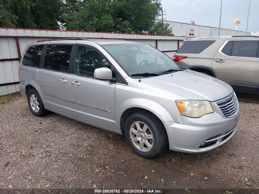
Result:
{"label": "brown gravel ground around and under the silver minivan", "polygon": [[255,102],[240,102],[238,130],[215,150],[147,160],[121,135],[55,113],[33,116],[19,93],[2,98],[0,188],[259,188]]}

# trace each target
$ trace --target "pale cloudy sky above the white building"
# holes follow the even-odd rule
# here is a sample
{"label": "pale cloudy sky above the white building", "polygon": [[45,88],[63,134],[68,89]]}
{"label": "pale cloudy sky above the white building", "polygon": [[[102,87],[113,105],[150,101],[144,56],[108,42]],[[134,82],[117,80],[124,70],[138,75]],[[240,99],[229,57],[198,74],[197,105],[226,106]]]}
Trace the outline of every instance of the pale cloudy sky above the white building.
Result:
{"label": "pale cloudy sky above the white building", "polygon": [[[196,25],[219,27],[220,0],[161,0],[166,19]],[[249,0],[223,0],[221,28],[235,30],[234,19],[241,20],[239,31],[246,31]],[[161,17],[158,17],[161,19]],[[247,32],[259,31],[259,0],[251,0]]]}

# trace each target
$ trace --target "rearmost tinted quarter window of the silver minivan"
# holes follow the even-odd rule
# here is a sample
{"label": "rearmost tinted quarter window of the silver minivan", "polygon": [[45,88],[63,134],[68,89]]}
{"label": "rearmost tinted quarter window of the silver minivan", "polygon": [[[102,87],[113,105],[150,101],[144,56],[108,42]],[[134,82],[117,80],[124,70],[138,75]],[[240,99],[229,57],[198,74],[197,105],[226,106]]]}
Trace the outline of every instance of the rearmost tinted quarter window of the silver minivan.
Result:
{"label": "rearmost tinted quarter window of the silver minivan", "polygon": [[40,55],[42,52],[43,44],[33,45],[27,49],[22,59],[23,65],[33,67],[40,67]]}

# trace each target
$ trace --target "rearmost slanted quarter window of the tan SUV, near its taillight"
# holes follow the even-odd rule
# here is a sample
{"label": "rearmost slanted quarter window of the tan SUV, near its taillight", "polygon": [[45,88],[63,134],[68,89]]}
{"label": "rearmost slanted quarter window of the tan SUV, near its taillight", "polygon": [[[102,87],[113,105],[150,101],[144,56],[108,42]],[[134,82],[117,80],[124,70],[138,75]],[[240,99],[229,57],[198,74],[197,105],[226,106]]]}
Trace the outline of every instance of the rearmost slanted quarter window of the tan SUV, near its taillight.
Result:
{"label": "rearmost slanted quarter window of the tan SUV, near its taillight", "polygon": [[208,48],[213,44],[215,40],[198,40],[198,41],[188,41],[183,44],[179,49],[178,53],[192,53],[198,54]]}

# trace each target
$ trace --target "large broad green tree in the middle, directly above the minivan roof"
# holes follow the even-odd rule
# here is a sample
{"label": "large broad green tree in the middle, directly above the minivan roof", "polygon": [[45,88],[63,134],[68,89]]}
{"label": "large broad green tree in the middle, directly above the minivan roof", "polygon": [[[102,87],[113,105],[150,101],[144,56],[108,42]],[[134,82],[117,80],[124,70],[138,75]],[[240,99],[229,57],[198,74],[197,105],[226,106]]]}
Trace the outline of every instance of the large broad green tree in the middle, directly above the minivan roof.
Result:
{"label": "large broad green tree in the middle, directly above the minivan roof", "polygon": [[[161,10],[160,0],[67,0],[66,6],[67,30],[137,34],[159,31],[155,18]],[[164,25],[163,31],[167,29]]]}

